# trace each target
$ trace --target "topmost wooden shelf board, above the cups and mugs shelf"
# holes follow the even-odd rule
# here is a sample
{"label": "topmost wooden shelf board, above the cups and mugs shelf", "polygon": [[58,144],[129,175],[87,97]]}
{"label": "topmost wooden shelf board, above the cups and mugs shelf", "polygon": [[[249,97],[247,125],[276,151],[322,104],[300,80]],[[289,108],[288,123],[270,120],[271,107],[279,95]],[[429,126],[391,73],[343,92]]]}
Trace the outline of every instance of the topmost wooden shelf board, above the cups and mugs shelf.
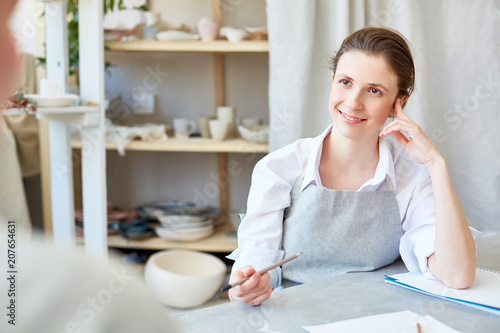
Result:
{"label": "topmost wooden shelf board, above the cups and mugs shelf", "polygon": [[155,41],[107,42],[108,51],[125,52],[214,52],[214,53],[268,53],[267,40],[230,43],[226,40],[202,41]]}

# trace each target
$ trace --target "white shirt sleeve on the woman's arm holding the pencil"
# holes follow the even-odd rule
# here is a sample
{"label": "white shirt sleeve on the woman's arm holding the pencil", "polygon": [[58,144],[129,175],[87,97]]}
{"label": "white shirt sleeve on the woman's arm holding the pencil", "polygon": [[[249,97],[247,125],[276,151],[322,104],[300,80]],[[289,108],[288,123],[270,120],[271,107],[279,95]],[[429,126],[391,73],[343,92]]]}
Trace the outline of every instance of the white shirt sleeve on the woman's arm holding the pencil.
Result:
{"label": "white shirt sleeve on the woman's arm holding the pencil", "polygon": [[[290,206],[290,192],[307,159],[308,146],[306,139],[299,140],[255,166],[246,215],[238,228],[238,249],[227,256],[235,260],[233,272],[246,265],[258,271],[283,259],[283,213]],[[281,268],[269,274],[276,288],[281,284]]]}

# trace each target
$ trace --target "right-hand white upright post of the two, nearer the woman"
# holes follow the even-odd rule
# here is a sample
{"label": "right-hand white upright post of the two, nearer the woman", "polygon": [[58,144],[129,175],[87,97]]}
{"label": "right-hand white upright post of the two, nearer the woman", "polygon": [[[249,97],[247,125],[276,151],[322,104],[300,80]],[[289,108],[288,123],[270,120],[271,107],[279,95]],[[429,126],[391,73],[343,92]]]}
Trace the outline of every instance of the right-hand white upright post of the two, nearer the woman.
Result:
{"label": "right-hand white upright post of the two, nearer the woman", "polygon": [[[79,1],[80,95],[99,105],[96,126],[82,127],[84,238],[87,252],[107,257],[104,43],[102,0]],[[92,124],[94,125],[94,124]]]}

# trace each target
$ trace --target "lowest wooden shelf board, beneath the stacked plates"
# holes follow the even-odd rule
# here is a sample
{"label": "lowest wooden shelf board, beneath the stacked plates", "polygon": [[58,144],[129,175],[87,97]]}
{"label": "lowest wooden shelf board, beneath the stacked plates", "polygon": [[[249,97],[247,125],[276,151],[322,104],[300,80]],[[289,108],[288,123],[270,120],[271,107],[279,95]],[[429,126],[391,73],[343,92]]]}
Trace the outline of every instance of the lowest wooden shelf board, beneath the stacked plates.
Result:
{"label": "lowest wooden shelf board, beneath the stacked plates", "polygon": [[[83,237],[76,237],[76,239],[77,243],[83,243]],[[119,235],[112,235],[108,236],[108,247],[141,250],[188,249],[229,253],[238,247],[238,240],[231,225],[225,223],[216,228],[210,237],[193,242],[174,242],[159,237],[133,241]]]}

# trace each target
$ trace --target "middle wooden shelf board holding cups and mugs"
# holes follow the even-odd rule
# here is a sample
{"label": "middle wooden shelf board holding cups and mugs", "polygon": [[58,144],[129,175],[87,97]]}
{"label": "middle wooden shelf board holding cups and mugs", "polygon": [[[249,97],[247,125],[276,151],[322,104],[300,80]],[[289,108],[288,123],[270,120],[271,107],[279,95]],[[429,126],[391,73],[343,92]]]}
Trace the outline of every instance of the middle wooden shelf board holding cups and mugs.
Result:
{"label": "middle wooden shelf board holding cups and mugs", "polygon": [[[80,139],[72,139],[71,147],[81,149]],[[106,149],[117,149],[116,143],[106,141]],[[268,153],[267,143],[252,143],[243,139],[214,141],[203,138],[177,139],[166,141],[131,141],[125,148],[135,151],[172,151],[172,152],[205,152],[205,153]]]}

